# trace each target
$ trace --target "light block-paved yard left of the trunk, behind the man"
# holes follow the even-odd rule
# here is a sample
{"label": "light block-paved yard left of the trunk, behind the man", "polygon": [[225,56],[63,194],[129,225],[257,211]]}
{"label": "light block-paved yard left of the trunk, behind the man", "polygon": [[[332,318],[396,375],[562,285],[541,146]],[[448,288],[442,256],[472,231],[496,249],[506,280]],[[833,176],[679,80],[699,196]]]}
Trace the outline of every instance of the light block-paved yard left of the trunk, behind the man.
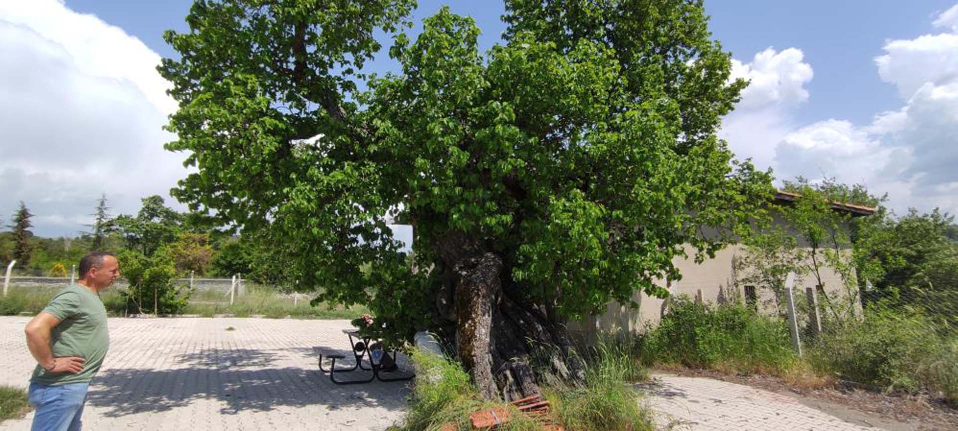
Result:
{"label": "light block-paved yard left of the trunk, behind the man", "polygon": [[[0,317],[0,384],[27,385],[28,320]],[[408,395],[403,382],[337,386],[318,373],[314,348],[348,351],[345,320],[109,319],[109,327],[85,429],[381,430],[399,420]],[[32,419],[0,429],[28,430]]]}

